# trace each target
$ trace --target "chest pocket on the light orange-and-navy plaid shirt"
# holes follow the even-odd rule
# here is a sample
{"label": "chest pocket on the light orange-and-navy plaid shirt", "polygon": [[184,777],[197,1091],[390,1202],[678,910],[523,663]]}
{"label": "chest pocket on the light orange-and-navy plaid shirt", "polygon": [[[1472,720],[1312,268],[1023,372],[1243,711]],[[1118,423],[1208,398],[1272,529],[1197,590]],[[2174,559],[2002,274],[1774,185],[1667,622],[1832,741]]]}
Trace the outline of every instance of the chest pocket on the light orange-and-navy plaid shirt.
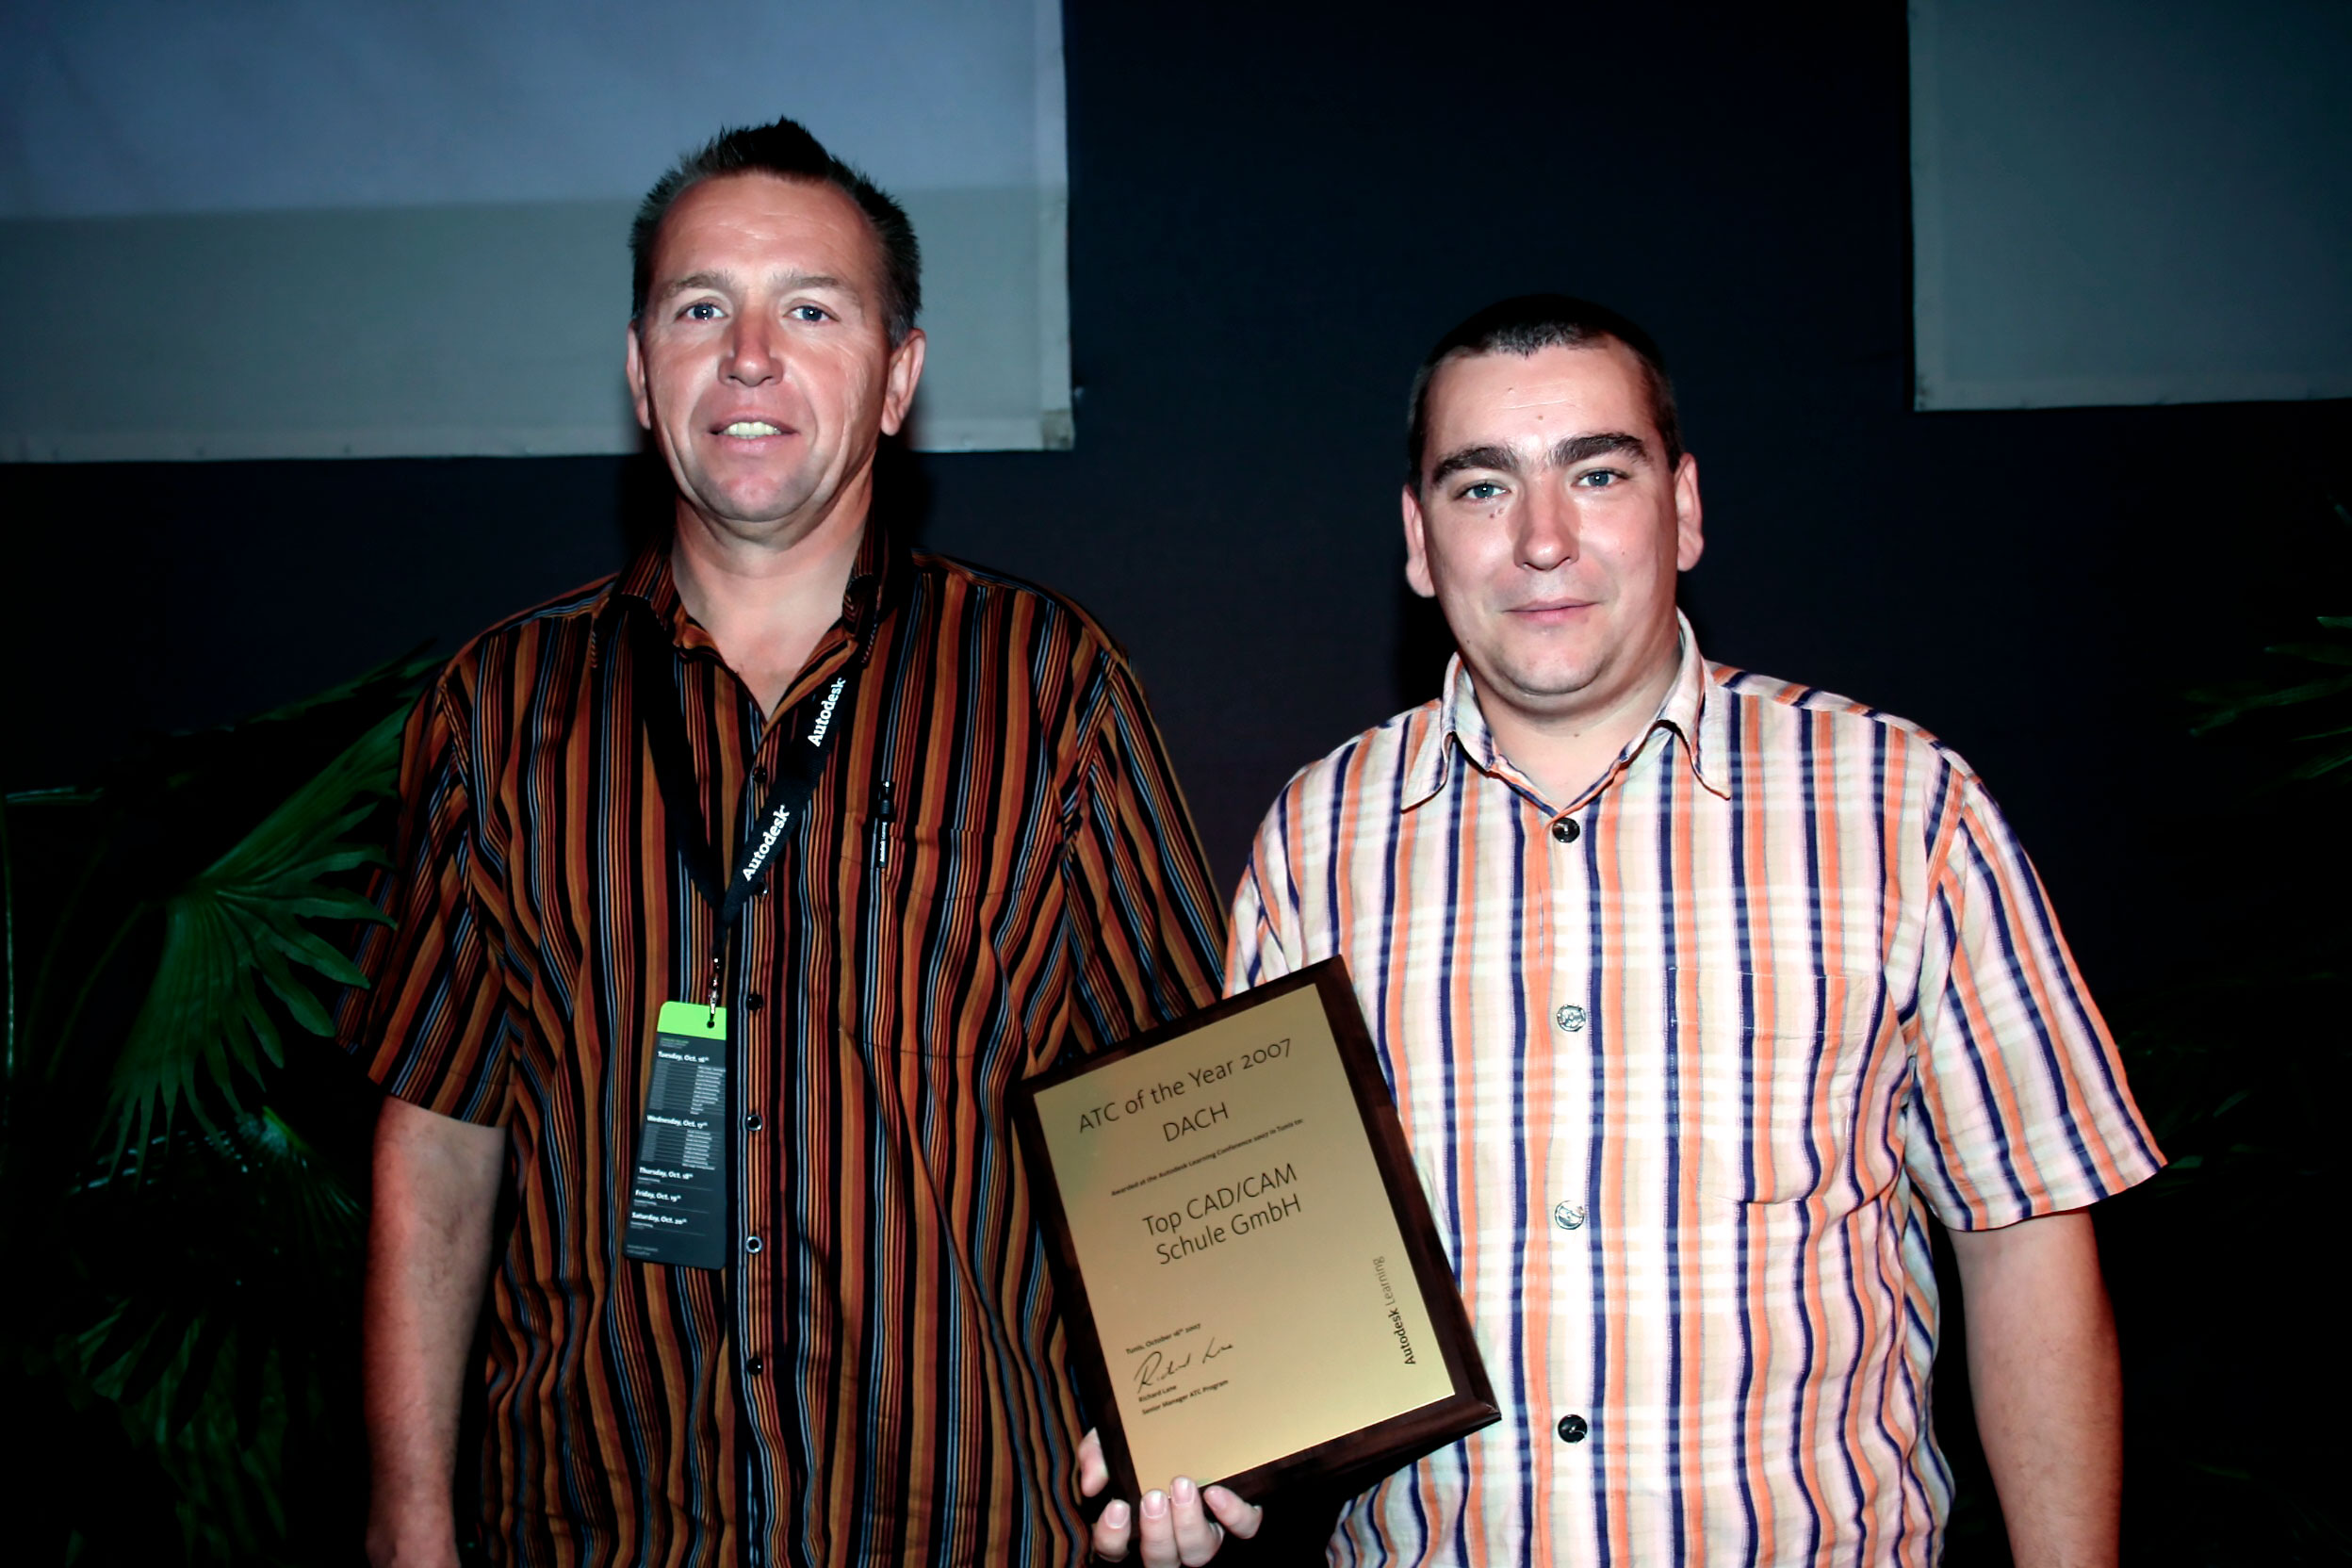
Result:
{"label": "chest pocket on the light orange-and-navy plaid shirt", "polygon": [[1684,973],[1672,994],[1700,1192],[1837,1215],[1886,1185],[1858,1126],[1884,1027],[1875,976]]}

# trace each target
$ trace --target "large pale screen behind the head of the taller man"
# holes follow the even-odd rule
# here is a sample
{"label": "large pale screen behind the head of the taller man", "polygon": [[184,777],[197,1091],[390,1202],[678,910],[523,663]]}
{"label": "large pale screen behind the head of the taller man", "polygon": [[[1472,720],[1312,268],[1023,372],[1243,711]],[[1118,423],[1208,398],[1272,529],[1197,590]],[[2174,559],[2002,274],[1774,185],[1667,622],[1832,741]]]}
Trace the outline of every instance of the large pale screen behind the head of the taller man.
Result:
{"label": "large pale screen behind the head of the taller man", "polygon": [[635,451],[635,202],[776,115],[915,219],[915,444],[1070,447],[1061,0],[7,0],[0,461]]}

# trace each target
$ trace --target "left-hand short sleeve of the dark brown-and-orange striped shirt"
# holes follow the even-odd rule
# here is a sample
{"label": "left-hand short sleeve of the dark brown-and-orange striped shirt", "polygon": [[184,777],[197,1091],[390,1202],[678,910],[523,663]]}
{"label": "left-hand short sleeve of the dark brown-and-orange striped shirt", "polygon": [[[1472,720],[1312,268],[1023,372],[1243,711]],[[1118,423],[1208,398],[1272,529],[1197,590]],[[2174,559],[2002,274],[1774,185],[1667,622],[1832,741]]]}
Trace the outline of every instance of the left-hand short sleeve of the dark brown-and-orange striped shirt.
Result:
{"label": "left-hand short sleeve of the dark brown-and-orange striped shirt", "polygon": [[409,715],[393,853],[372,889],[390,924],[360,943],[367,990],[343,997],[339,1034],[386,1093],[499,1126],[517,1023],[494,964],[496,898],[480,886],[461,710],[445,675]]}

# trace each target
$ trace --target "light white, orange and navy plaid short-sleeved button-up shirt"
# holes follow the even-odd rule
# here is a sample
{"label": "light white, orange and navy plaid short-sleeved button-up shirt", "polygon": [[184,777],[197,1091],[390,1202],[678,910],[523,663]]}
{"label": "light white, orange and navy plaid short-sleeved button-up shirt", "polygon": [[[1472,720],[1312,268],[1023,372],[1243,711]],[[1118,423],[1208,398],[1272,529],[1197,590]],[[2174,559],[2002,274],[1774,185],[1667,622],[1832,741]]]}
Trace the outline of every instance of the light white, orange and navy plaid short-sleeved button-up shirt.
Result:
{"label": "light white, orange and navy plaid short-sleeved button-up shirt", "polygon": [[1301,771],[1235,987],[1343,954],[1501,1425],[1338,1563],[1933,1563],[1929,1215],[2161,1164],[2042,886],[1917,726],[1698,656],[1573,802],[1472,682]]}

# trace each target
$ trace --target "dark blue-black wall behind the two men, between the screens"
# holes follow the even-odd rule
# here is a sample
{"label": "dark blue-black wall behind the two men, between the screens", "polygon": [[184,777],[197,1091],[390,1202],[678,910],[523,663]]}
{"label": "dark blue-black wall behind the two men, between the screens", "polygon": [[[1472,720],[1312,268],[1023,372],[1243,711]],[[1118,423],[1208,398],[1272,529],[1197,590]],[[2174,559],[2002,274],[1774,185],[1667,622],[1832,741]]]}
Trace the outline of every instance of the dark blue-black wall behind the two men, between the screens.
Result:
{"label": "dark blue-black wall behind the two men, between the screens", "polygon": [[[1414,362],[1494,296],[1569,289],[1675,362],[1708,654],[1957,743],[2103,985],[2260,905],[2237,867],[2293,846],[2220,795],[2178,691],[2326,607],[2300,585],[2345,559],[2352,407],[1912,414],[1898,5],[1073,5],[1068,42],[1077,451],[924,458],[922,536],[1131,646],[1218,877],[1294,766],[1435,686],[1397,543]],[[0,470],[7,783],[452,649],[612,569],[633,484],[612,458]]]}

